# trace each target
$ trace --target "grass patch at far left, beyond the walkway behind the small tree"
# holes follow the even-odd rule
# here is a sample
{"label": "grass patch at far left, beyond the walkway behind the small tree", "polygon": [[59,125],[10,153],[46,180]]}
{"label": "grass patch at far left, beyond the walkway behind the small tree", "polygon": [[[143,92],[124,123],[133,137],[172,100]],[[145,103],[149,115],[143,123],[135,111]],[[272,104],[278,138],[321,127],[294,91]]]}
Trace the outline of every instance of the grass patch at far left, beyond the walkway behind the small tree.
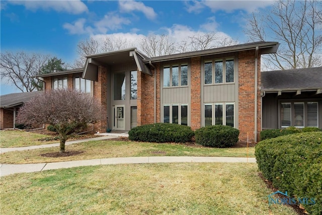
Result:
{"label": "grass patch at far left, beyond the walkway behind the small tree", "polygon": [[38,141],[37,139],[43,137],[50,137],[49,135],[20,131],[20,130],[1,130],[0,131],[0,147],[9,148],[9,147],[28,147],[28,146],[37,146],[43,144],[51,144],[54,141]]}

